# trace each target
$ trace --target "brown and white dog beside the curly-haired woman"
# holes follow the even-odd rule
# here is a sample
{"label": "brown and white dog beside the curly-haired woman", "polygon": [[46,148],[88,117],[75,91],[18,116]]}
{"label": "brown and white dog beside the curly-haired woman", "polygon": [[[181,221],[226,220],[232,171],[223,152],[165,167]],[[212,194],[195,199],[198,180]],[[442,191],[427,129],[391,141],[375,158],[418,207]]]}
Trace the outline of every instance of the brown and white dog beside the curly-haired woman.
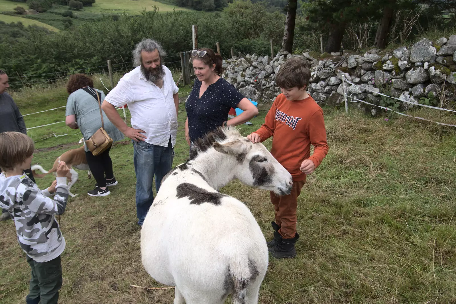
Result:
{"label": "brown and white dog beside the curly-haired woman", "polygon": [[[81,140],[78,143],[84,142],[84,138],[81,138]],[[78,180],[78,172],[76,172],[74,168],[78,170],[87,170],[87,176],[88,178],[92,177],[92,172],[90,172],[90,169],[88,167],[87,159],[85,157],[85,151],[84,151],[84,145],[77,148],[77,149],[71,149],[67,152],[64,152],[61,156],[57,157],[56,161],[54,162],[54,165],[52,166],[52,169],[49,171],[46,171],[41,167],[40,165],[33,165],[31,166],[31,171],[33,173],[33,177],[44,177],[48,173],[54,173],[56,175],[57,167],[60,162],[65,162],[67,164],[68,169],[70,169],[70,172],[67,174],[67,179],[70,181],[68,182],[68,193],[71,197],[75,197],[76,194],[73,194],[70,192],[71,186]],[[38,174],[35,171],[39,169],[41,172],[44,174]]]}

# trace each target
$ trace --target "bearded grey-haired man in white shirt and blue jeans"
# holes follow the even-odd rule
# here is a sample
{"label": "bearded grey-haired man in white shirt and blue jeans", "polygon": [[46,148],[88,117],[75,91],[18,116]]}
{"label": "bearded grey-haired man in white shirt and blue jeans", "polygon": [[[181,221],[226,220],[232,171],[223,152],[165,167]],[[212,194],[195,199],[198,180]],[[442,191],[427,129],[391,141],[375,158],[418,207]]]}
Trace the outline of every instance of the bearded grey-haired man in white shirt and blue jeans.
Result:
{"label": "bearded grey-haired man in white shirt and blue jeans", "polygon": [[[136,216],[142,226],[154,201],[152,179],[159,190],[161,179],[171,170],[177,133],[179,89],[171,71],[163,65],[166,56],[154,40],[144,39],[133,51],[136,68],[125,74],[104,99],[102,109],[109,120],[133,141],[136,173]],[[128,127],[116,110],[127,104]]]}

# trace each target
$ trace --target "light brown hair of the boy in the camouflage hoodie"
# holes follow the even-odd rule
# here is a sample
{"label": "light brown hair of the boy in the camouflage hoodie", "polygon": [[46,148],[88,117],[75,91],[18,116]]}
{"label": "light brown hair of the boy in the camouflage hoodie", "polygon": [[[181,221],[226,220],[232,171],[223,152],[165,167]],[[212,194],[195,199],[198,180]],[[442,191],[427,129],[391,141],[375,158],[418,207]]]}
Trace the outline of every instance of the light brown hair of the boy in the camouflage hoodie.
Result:
{"label": "light brown hair of the boy in the camouflage hoodie", "polygon": [[34,149],[33,140],[25,134],[0,133],[0,168],[2,171],[13,170],[31,157]]}

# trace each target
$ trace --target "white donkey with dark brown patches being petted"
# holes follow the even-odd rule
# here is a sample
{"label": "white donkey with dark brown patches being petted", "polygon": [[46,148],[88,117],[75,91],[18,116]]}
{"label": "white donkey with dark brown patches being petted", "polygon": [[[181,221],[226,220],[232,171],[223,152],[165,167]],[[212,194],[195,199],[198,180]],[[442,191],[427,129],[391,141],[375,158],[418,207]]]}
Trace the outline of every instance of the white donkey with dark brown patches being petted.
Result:
{"label": "white donkey with dark brown patches being petted", "polygon": [[195,142],[197,154],[164,177],[141,230],[145,270],[176,286],[175,304],[258,303],[268,248],[244,203],[218,193],[234,178],[289,194],[292,178],[263,144],[234,128]]}

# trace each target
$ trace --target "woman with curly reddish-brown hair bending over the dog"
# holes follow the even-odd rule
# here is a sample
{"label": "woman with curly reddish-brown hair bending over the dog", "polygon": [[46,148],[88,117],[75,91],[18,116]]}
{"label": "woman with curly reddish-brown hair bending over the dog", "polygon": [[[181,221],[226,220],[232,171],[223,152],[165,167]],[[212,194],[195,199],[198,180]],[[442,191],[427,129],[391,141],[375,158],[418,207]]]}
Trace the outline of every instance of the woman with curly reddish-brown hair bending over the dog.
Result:
{"label": "woman with curly reddish-brown hair bending over the dog", "polygon": [[[70,94],[67,101],[66,124],[72,129],[80,129],[85,140],[88,140],[101,127],[100,109],[98,106],[98,97],[100,102],[104,101],[103,91],[93,88],[93,81],[85,74],[74,74],[70,76],[67,83],[67,92]],[[98,95],[98,97],[97,97]],[[119,141],[124,138],[120,132],[106,117],[103,112],[104,130],[108,132],[113,141]],[[117,185],[114,178],[113,163],[109,157],[109,150],[96,156],[92,155],[85,146],[88,167],[92,172],[97,184],[95,189],[89,191],[90,196],[109,195],[108,186]]]}

